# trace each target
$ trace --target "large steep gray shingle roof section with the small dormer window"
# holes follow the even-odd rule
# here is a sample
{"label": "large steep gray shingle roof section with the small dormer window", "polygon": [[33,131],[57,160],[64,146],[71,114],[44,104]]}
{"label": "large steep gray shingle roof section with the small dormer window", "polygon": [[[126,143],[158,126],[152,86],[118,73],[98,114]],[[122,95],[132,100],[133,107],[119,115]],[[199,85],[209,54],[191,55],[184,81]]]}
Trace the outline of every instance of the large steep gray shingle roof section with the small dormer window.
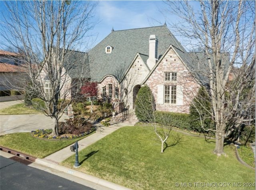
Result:
{"label": "large steep gray shingle roof section with the small dormer window", "polygon": [[[112,31],[88,52],[91,80],[100,81],[108,74],[120,80],[137,52],[144,55],[142,59],[146,63],[150,35],[156,35],[158,39],[158,56],[162,55],[170,44],[185,51],[165,25]],[[113,47],[112,53],[105,53],[107,45]]]}

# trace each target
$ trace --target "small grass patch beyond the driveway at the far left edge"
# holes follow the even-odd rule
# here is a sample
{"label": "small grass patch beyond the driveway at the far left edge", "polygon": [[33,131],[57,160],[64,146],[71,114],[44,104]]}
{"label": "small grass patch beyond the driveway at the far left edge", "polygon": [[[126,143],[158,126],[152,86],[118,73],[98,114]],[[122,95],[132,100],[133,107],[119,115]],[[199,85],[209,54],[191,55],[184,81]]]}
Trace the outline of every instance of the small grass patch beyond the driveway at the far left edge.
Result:
{"label": "small grass patch beyond the driveway at the far left edge", "polygon": [[24,103],[15,104],[0,110],[0,115],[18,115],[18,114],[39,114],[41,113],[34,108],[28,108]]}

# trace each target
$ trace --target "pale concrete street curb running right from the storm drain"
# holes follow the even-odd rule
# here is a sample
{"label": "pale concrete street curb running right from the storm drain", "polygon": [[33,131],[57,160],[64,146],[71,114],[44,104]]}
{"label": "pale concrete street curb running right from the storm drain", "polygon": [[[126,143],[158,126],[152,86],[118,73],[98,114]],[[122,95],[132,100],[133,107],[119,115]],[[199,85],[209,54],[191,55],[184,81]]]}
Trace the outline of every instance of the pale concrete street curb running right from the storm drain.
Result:
{"label": "pale concrete street curb running right from the storm drain", "polygon": [[40,165],[44,165],[44,166],[48,166],[48,167],[56,169],[58,171],[61,171],[61,172],[64,172],[64,173],[67,173],[67,174],[85,179],[85,180],[88,180],[90,182],[93,182],[95,184],[111,188],[113,190],[132,190],[130,188],[126,188],[126,187],[120,186],[118,184],[114,184],[112,182],[109,182],[109,181],[103,180],[101,178],[91,176],[89,174],[85,174],[83,172],[79,172],[79,171],[71,169],[71,168],[66,168],[64,166],[60,166],[60,165],[57,165],[57,164],[54,164],[54,163],[50,163],[50,162],[45,161],[43,159],[36,159],[35,163],[40,164]]}

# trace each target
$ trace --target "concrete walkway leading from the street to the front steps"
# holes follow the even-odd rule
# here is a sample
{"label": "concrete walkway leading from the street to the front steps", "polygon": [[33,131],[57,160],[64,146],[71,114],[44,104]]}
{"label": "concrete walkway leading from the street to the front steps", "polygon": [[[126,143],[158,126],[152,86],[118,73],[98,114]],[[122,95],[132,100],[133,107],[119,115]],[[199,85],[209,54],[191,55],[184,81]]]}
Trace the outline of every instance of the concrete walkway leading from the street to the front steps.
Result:
{"label": "concrete walkway leading from the street to the front steps", "polygon": [[[96,141],[102,139],[103,137],[106,137],[108,134],[124,126],[133,126],[133,125],[127,122],[116,123],[114,125],[110,125],[109,127],[104,127],[100,124],[96,125],[96,133],[78,141],[78,146],[79,146],[78,150],[81,151],[82,149],[88,147],[89,145],[95,143]],[[44,160],[58,164],[74,154],[75,153],[70,151],[70,146],[68,146],[56,153],[53,153],[52,155],[49,155],[48,157],[45,157]]]}

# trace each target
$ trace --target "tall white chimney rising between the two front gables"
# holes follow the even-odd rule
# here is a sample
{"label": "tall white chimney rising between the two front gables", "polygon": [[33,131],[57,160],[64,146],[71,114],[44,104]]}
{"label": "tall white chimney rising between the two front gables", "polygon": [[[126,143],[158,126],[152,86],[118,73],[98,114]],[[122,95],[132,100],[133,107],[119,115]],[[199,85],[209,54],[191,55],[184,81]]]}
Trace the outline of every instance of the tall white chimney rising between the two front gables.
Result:
{"label": "tall white chimney rising between the two front gables", "polygon": [[156,64],[157,59],[157,43],[158,39],[156,39],[156,35],[150,35],[149,37],[149,53],[147,64],[149,69],[151,70]]}

